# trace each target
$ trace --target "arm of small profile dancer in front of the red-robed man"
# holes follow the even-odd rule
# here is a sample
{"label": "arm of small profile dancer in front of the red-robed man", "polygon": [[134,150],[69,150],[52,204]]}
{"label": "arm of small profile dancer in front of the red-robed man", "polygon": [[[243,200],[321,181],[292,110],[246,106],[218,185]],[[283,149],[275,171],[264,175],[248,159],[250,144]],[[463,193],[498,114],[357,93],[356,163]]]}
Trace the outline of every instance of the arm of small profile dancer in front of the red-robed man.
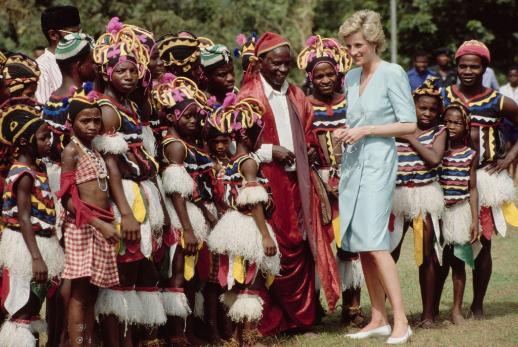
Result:
{"label": "arm of small profile dancer in front of the red-robed man", "polygon": [[[257,169],[257,162],[253,159],[247,159],[241,163],[241,173],[247,182],[254,182],[257,180]],[[275,242],[271,238],[268,228],[266,227],[263,204],[259,202],[254,205],[250,205],[250,212],[252,213],[252,217],[257,225],[257,229],[259,229],[261,236],[263,236],[264,254],[268,257],[275,255],[277,253],[277,247],[275,246]]]}

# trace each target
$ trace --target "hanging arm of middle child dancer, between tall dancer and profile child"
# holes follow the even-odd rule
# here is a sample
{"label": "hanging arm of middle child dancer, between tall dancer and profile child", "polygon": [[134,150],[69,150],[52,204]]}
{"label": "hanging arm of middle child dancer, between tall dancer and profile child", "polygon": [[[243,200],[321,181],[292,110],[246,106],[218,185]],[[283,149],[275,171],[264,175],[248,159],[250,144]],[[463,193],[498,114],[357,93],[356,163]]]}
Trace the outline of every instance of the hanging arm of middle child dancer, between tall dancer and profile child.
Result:
{"label": "hanging arm of middle child dancer, between tall dancer and profile child", "polygon": [[[166,156],[170,162],[176,164],[183,164],[183,160],[186,156],[185,146],[179,142],[175,141],[170,143],[166,147]],[[185,173],[187,174],[187,173]],[[185,255],[195,255],[198,240],[194,235],[194,229],[191,225],[191,220],[189,219],[189,215],[187,213],[187,205],[185,204],[185,198],[178,192],[172,193],[172,205],[175,207],[176,214],[178,215],[178,219],[182,224],[183,228],[183,242],[184,242],[184,252]]]}

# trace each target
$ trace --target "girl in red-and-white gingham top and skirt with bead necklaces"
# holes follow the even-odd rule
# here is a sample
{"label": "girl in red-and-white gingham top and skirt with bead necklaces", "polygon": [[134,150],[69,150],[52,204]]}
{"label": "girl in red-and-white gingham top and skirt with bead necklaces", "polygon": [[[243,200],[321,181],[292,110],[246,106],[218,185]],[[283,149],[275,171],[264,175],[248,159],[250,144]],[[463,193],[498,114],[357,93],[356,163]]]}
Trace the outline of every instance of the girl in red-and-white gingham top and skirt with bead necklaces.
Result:
{"label": "girl in red-and-white gingham top and skirt with bead necklaces", "polygon": [[101,126],[98,96],[93,84],[71,88],[68,121],[70,142],[61,158],[62,198],[65,218],[65,268],[62,278],[71,279],[68,306],[70,346],[90,345],[94,305],[98,289],[119,284],[115,247],[119,231],[112,224],[113,209],[108,199],[108,173],[92,140]]}

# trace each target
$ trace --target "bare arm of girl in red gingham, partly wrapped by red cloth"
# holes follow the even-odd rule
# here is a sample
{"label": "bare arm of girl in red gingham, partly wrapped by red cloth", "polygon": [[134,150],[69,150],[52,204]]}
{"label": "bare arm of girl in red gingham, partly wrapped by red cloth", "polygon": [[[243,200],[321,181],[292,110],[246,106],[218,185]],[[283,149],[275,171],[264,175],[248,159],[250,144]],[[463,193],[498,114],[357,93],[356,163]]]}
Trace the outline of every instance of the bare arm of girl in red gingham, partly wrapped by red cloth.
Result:
{"label": "bare arm of girl in red gingham, partly wrapped by red cloth", "polygon": [[[74,172],[74,170],[76,169],[75,158],[77,157],[77,155],[78,151],[75,146],[69,145],[65,147],[61,155],[61,174],[65,172]],[[61,198],[61,203],[70,214],[75,215],[76,208],[74,207],[74,203],[70,198],[70,194],[65,193]],[[119,242],[121,238],[120,233],[117,230],[117,228],[113,226],[113,224],[105,222],[104,220],[101,220],[97,217],[93,217],[89,224],[92,225],[92,227],[94,227],[95,229],[99,230],[108,243],[114,245]]]}

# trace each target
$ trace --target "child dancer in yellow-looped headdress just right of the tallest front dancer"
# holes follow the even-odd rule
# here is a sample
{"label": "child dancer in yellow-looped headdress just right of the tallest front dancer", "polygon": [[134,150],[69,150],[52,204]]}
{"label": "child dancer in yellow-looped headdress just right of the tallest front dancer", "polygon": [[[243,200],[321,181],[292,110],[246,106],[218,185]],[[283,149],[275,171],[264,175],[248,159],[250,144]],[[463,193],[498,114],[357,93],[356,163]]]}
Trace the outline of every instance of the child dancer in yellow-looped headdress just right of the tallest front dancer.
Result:
{"label": "child dancer in yellow-looped headdress just right of the tallest front dancer", "polygon": [[[161,82],[155,88],[155,98],[161,104],[168,124],[160,152],[164,164],[163,187],[168,196],[166,205],[172,227],[172,233],[164,237],[167,247],[162,274],[168,286],[164,288],[162,300],[169,316],[169,345],[176,347],[189,342],[199,344],[192,330],[194,290],[189,288],[190,292],[184,293],[183,288],[185,282],[195,276],[198,251],[207,235],[204,216],[193,203],[200,196],[199,186],[195,183],[198,168],[193,134],[202,105],[193,95],[200,93],[194,82],[175,78],[170,73],[166,73]],[[188,294],[191,306],[185,294]],[[188,317],[190,320],[186,322]],[[185,322],[189,328],[187,335],[184,334]]]}

